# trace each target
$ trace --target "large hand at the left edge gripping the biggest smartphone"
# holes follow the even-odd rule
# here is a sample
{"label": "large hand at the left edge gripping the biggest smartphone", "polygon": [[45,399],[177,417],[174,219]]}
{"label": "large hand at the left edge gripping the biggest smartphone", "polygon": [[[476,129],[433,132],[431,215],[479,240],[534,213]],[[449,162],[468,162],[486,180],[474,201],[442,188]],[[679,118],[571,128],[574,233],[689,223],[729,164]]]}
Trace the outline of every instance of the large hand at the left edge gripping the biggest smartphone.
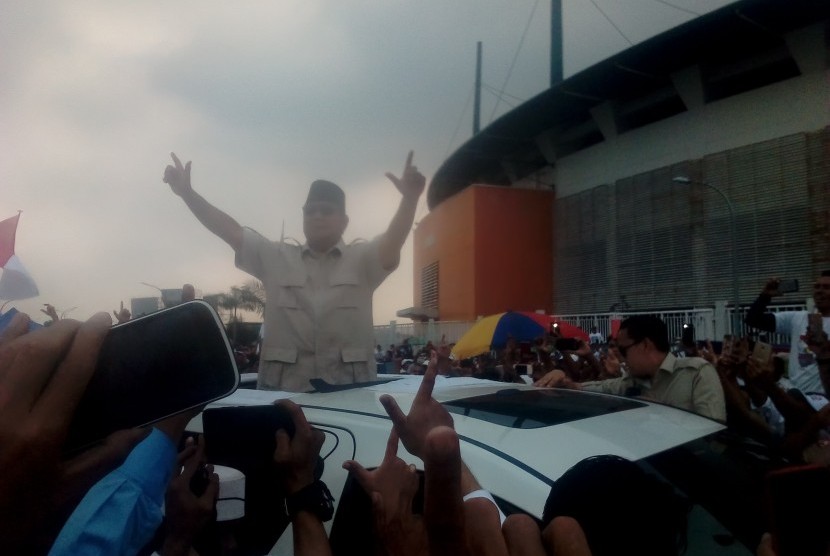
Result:
{"label": "large hand at the left edge gripping the biggest smartphone", "polygon": [[62,320],[0,345],[0,538],[17,553],[42,534],[63,488],[61,448],[110,318]]}

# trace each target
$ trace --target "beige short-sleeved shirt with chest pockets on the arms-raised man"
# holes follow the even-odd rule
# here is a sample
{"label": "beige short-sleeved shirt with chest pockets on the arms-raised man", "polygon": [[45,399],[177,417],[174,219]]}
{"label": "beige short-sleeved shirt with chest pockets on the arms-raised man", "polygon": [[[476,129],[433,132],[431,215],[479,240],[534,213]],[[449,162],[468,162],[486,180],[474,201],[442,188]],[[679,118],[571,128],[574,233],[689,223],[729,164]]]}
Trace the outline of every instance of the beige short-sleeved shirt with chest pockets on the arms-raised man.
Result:
{"label": "beige short-sleeved shirt with chest pockets on the arms-raised man", "polygon": [[243,228],[236,266],[265,285],[265,338],[257,388],[306,392],[310,378],[332,384],[377,377],[372,294],[391,271],[378,240],[327,253],[270,241]]}

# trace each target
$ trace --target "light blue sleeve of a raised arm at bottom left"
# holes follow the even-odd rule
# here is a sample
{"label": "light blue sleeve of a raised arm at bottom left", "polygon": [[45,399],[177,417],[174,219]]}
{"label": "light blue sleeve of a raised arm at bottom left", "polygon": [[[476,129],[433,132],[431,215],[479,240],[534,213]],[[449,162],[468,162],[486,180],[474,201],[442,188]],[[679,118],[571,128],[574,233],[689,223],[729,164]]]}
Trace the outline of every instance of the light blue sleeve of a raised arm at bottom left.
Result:
{"label": "light blue sleeve of a raised arm at bottom left", "polygon": [[121,467],[87,492],[49,554],[136,554],[161,524],[176,455],[170,438],[153,429]]}

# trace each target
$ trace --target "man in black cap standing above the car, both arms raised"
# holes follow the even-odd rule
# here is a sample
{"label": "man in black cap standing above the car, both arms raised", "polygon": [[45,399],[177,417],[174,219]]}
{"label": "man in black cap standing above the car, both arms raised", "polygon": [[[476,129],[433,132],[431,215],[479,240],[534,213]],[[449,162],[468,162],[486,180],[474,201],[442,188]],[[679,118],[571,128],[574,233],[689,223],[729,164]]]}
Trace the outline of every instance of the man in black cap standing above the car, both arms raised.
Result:
{"label": "man in black cap standing above the car, both arms raised", "polygon": [[173,165],[164,182],[208,230],[236,253],[236,265],[262,280],[266,290],[265,338],[257,387],[304,392],[311,378],[363,382],[377,376],[372,294],[398,266],[426,180],[407,157],[403,175],[386,176],[401,202],[386,232],[346,245],[346,198],[337,185],[317,180],[303,206],[302,246],[270,241],[240,226],[190,184],[190,162]]}

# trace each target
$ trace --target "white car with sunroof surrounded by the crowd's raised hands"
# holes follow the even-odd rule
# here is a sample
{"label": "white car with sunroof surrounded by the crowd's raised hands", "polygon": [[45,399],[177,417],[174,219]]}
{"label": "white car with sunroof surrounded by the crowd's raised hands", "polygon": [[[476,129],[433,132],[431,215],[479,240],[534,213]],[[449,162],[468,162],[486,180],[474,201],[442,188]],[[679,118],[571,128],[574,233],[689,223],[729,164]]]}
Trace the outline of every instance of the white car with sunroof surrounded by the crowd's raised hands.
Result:
{"label": "white car with sunroof surrounded by the crowd's raised hands", "polygon": [[[390,377],[382,384],[307,394],[240,389],[209,408],[291,398],[326,433],[322,480],[340,504],[348,477],[342,463],[355,459],[374,467],[383,458],[391,421],[380,396],[391,394],[407,412],[420,380]],[[719,422],[638,399],[472,378],[438,377],[433,396],[453,414],[464,461],[505,513],[541,519],[551,487],[565,471],[587,457],[612,454],[665,478],[694,504],[686,554],[754,553],[753,527],[760,523],[752,512],[758,508],[742,498],[745,493],[725,490],[740,491],[742,479],[731,474],[742,463],[736,467],[725,459],[730,441]],[[188,429],[201,432],[201,419]],[[206,440],[210,449],[209,435]],[[402,446],[398,455],[423,469]],[[744,506],[750,513],[735,515]],[[327,528],[336,528],[344,513],[338,511]],[[271,553],[291,554],[290,527]]]}

